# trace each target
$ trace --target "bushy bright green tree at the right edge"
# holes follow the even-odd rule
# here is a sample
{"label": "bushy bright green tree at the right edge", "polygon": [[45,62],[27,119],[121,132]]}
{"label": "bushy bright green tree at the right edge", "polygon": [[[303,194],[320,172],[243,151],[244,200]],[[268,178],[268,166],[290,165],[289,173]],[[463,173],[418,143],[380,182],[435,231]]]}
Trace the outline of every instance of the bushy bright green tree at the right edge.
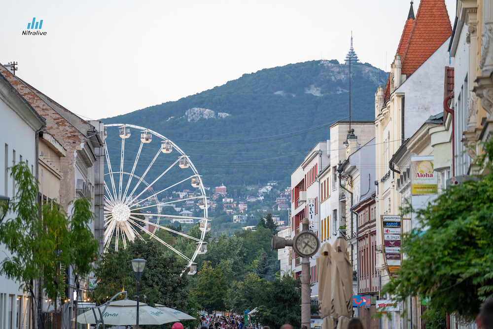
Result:
{"label": "bushy bright green tree at the right edge", "polygon": [[[474,319],[493,296],[493,140],[477,162],[486,173],[478,182],[449,187],[426,209],[422,228],[404,236],[407,255],[397,278],[384,288],[398,300],[431,297],[430,308]],[[409,212],[404,210],[403,212]],[[423,230],[423,228],[425,230]]]}

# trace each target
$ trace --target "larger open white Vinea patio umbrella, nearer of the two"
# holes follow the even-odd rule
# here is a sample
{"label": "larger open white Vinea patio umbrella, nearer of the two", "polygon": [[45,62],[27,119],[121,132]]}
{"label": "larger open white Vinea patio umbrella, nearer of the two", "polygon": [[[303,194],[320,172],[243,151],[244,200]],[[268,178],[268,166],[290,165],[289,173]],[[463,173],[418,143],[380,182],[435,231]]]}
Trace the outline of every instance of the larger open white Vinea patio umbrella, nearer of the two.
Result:
{"label": "larger open white Vinea patio umbrella, nearer of the two", "polygon": [[[104,310],[104,306],[102,311]],[[99,311],[94,317],[93,310],[82,313],[72,321],[81,324],[95,324],[99,319]],[[157,308],[151,307],[146,303],[139,302],[139,325],[162,325],[170,322],[179,322],[175,315]],[[135,326],[137,323],[137,301],[123,299],[109,303],[103,314],[105,325],[113,326]]]}

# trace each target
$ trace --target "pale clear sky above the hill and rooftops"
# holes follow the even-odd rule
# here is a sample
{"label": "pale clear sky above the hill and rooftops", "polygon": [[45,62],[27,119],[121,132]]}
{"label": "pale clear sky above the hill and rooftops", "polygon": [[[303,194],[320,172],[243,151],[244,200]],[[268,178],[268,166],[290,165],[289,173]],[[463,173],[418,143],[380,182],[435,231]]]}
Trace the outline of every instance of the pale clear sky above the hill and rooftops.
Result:
{"label": "pale clear sky above the hill and rooftops", "polygon": [[[420,0],[415,0],[418,11]],[[445,0],[454,22],[456,1]],[[319,59],[389,71],[408,0],[7,0],[0,63],[86,119],[176,101]],[[46,35],[22,35],[35,17]]]}

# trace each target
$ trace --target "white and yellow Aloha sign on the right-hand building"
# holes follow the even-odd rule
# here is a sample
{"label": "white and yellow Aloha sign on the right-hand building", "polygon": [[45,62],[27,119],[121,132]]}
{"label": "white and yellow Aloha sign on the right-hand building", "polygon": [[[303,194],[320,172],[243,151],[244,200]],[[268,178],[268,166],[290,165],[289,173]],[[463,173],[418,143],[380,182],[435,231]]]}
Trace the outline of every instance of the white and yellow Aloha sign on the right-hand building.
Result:
{"label": "white and yellow Aloha sign on the right-hand building", "polygon": [[433,169],[433,156],[411,159],[411,195],[437,193],[437,173]]}

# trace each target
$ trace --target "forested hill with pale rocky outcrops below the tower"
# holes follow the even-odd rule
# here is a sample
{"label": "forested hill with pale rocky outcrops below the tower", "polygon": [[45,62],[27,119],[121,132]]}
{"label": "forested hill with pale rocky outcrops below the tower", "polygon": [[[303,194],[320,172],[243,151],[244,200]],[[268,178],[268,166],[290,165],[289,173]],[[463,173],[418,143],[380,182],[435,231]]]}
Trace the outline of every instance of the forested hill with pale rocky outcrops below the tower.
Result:
{"label": "forested hill with pale rocky outcrops below the tower", "polygon": [[[387,73],[351,67],[352,120],[373,120],[375,92]],[[136,124],[171,139],[190,157],[205,184],[288,182],[329,126],[348,120],[349,66],[310,61],[244,74],[199,94],[102,119]],[[107,139],[119,147],[120,139]]]}

